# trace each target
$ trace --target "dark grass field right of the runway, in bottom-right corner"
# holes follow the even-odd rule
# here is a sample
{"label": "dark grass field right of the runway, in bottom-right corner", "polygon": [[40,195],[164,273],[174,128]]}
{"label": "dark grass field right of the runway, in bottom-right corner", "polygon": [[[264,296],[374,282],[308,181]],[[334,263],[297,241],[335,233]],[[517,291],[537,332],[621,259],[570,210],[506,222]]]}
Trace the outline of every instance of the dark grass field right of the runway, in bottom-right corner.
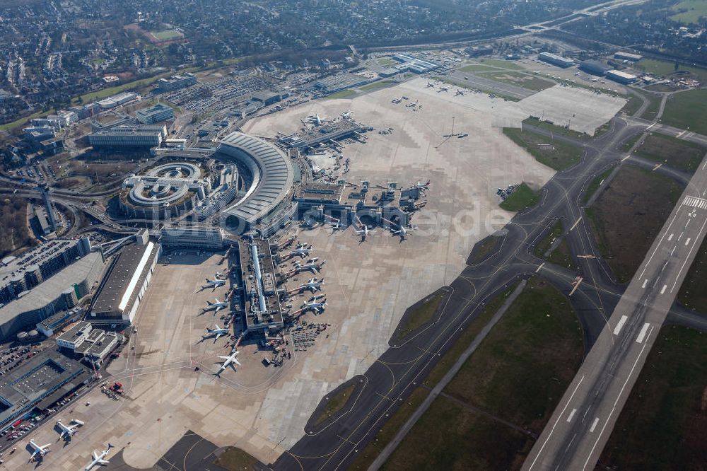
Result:
{"label": "dark grass field right of the runway, in bottom-right corner", "polygon": [[597,469],[704,470],[705,334],[667,326],[657,336]]}

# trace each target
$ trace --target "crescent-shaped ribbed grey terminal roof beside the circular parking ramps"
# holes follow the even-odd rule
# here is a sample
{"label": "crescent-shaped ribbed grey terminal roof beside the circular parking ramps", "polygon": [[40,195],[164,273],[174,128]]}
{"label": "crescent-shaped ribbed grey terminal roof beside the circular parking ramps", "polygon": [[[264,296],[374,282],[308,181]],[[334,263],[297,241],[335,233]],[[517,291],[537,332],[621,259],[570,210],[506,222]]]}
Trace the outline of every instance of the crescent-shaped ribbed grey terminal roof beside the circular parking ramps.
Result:
{"label": "crescent-shaped ribbed grey terminal roof beside the circular parking ramps", "polygon": [[243,163],[253,175],[248,192],[226,213],[256,223],[287,196],[293,184],[292,164],[277,147],[241,132],[232,132],[218,143],[217,152]]}

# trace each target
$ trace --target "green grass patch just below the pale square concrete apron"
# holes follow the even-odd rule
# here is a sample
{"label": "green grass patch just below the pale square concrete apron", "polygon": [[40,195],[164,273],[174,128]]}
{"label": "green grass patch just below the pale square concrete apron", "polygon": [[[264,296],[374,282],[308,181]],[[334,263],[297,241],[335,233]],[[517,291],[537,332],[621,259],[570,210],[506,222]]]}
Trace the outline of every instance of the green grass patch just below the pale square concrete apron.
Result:
{"label": "green grass patch just below the pale square concrete apron", "polygon": [[517,127],[504,127],[503,134],[530,153],[536,161],[555,170],[564,170],[575,165],[584,153],[574,144],[550,139],[530,131],[523,132]]}

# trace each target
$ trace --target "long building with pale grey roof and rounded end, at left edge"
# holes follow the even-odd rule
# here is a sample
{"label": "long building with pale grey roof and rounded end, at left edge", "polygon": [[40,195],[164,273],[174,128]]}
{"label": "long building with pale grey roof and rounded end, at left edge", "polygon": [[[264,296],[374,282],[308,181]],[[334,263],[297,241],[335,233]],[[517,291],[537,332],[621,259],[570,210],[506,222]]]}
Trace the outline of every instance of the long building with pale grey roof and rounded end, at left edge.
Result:
{"label": "long building with pale grey roof and rounded end, at left edge", "polygon": [[103,273],[103,255],[92,252],[0,308],[0,341],[11,339],[61,310],[76,307]]}

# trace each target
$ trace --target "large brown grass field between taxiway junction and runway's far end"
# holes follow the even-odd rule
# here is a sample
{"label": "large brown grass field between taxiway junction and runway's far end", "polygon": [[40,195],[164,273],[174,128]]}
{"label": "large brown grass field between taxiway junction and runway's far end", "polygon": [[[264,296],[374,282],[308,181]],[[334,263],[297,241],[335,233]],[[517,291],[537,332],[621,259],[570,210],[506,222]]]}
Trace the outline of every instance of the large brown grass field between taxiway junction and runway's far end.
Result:
{"label": "large brown grass field between taxiway junction and runway's far end", "polygon": [[585,209],[602,257],[620,283],[631,280],[682,190],[670,178],[624,165],[594,206]]}

